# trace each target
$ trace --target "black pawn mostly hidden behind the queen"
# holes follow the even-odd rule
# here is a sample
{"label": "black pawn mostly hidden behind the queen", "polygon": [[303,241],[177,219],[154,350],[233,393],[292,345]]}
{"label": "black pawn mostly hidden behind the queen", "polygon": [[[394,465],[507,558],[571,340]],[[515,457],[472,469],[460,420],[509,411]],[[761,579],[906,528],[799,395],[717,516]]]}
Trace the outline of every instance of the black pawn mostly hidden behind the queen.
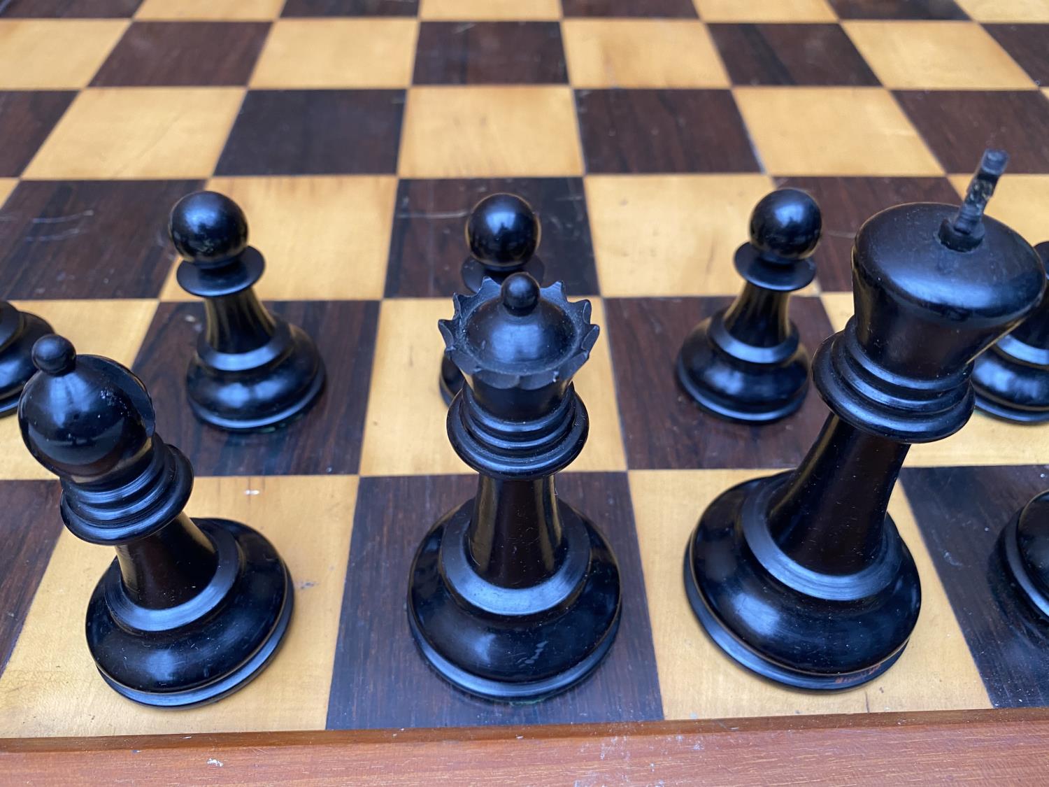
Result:
{"label": "black pawn mostly hidden behind the queen", "polygon": [[[501,284],[517,271],[531,274],[542,282],[542,260],[535,255],[539,248],[539,217],[532,206],[516,194],[489,194],[470,211],[464,228],[470,256],[463,262],[463,283],[475,293],[487,276]],[[447,404],[463,387],[463,373],[448,355],[441,358],[441,396]]]}

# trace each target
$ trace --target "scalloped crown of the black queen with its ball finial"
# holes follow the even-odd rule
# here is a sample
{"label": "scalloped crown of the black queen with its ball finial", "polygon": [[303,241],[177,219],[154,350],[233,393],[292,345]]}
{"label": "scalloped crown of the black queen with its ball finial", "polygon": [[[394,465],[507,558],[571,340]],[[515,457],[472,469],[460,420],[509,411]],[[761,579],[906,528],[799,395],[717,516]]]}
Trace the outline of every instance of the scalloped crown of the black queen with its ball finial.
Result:
{"label": "scalloped crown of the black queen with its ball finial", "polygon": [[588,300],[570,302],[562,282],[540,288],[527,273],[501,286],[485,277],[476,293],[456,293],[452,302],[452,318],[437,322],[445,352],[465,376],[495,388],[534,390],[572,378],[599,333]]}

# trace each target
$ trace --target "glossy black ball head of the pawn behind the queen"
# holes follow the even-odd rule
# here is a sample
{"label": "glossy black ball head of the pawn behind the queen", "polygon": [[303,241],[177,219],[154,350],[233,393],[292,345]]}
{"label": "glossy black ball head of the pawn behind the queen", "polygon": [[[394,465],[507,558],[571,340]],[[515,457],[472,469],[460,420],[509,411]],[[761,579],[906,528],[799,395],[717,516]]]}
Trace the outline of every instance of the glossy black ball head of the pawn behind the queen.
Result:
{"label": "glossy black ball head of the pawn behind the queen", "polygon": [[489,268],[516,268],[539,246],[539,218],[514,194],[490,194],[466,222],[470,254]]}

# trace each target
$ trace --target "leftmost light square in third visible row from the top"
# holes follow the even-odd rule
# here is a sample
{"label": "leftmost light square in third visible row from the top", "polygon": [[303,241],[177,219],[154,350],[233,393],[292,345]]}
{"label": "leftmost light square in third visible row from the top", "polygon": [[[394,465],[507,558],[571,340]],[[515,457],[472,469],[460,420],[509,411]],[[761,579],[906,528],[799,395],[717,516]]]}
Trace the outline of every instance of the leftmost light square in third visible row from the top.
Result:
{"label": "leftmost light square in third visible row from the top", "polygon": [[208,177],[243,93],[237,87],[84,90],[23,176]]}

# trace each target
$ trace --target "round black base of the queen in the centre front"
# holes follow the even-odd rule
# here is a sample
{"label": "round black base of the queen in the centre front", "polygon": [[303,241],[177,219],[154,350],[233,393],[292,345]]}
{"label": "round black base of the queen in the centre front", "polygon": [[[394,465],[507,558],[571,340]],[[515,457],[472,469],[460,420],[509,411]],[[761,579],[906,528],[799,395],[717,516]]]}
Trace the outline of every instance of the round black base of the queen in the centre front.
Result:
{"label": "round black base of the queen in the centre front", "polygon": [[489,700],[533,702],[588,676],[619,629],[619,568],[604,537],[558,503],[565,555],[539,586],[508,589],[464,571],[469,501],[423,539],[409,572],[408,622],[430,666]]}

